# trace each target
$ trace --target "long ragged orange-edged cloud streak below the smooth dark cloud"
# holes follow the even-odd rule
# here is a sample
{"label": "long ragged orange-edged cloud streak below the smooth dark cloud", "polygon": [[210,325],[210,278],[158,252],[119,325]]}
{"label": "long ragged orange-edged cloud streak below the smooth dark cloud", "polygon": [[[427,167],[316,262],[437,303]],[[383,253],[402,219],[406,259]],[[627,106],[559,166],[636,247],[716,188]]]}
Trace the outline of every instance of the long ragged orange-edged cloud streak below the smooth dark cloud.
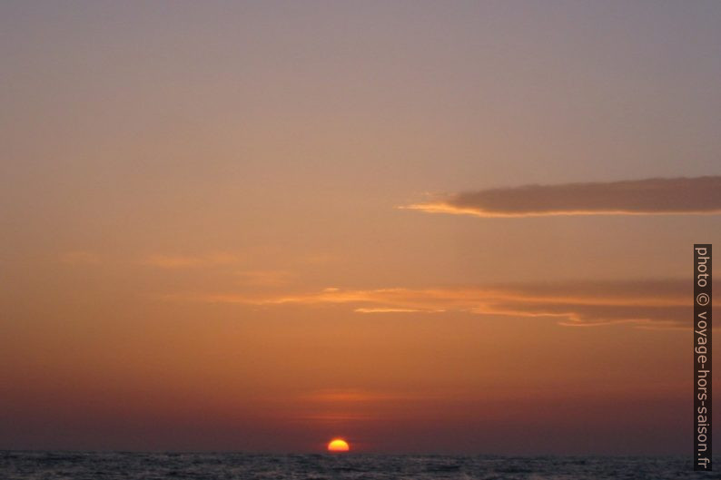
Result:
{"label": "long ragged orange-edged cloud streak below the smooth dark cloud", "polygon": [[174,294],[170,300],[253,306],[348,305],[362,314],[467,312],[478,315],[556,318],[566,326],[634,323],[679,327],[691,318],[684,279],[576,281],[446,289],[325,289],[284,296]]}

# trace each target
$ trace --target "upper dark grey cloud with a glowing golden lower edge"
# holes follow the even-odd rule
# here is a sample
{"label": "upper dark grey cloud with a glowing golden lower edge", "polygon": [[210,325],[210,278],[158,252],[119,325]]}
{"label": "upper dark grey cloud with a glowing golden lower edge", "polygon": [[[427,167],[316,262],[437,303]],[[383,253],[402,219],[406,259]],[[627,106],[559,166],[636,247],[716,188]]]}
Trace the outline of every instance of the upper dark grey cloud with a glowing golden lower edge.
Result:
{"label": "upper dark grey cloud with a glowing golden lower edge", "polygon": [[478,217],[721,213],[721,176],[526,185],[401,207]]}

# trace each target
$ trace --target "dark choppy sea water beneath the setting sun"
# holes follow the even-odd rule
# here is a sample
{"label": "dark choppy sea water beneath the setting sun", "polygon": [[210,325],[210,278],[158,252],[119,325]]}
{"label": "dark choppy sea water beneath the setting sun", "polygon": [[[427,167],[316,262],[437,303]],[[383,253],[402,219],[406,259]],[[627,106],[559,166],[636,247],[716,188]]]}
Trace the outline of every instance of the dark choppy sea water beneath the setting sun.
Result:
{"label": "dark choppy sea water beneath the setting sun", "polygon": [[[721,459],[720,459],[721,460]],[[721,464],[719,464],[721,469]],[[249,455],[0,452],[3,480],[721,478],[674,456]]]}

